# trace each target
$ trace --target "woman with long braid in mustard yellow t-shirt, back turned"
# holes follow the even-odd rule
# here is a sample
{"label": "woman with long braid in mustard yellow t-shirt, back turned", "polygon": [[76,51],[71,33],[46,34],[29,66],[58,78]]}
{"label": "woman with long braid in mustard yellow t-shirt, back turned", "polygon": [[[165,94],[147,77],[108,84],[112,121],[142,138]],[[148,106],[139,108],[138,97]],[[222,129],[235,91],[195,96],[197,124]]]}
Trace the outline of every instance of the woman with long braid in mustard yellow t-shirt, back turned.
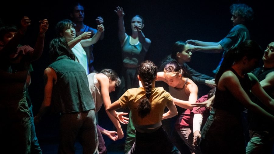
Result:
{"label": "woman with long braid in mustard yellow t-shirt, back turned", "polygon": [[[115,110],[128,107],[132,112],[136,138],[128,153],[172,153],[173,145],[161,126],[163,119],[177,115],[172,96],[162,87],[155,88],[157,68],[153,62],[147,60],[140,64],[138,79],[143,87],[128,89],[107,110],[122,123],[125,119]],[[164,114],[165,107],[169,111]]]}

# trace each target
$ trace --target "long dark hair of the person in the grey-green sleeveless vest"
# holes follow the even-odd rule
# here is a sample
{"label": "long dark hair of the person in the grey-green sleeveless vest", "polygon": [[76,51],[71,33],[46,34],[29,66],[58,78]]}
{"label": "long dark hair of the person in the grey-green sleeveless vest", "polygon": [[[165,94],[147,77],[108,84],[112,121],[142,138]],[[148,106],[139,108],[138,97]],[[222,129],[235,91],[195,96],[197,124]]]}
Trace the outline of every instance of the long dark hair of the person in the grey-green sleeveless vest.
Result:
{"label": "long dark hair of the person in the grey-green sleeveless vest", "polygon": [[65,37],[57,37],[51,40],[49,45],[49,53],[53,61],[56,61],[56,59],[62,55],[67,55],[72,60],[75,60],[75,55],[68,47]]}

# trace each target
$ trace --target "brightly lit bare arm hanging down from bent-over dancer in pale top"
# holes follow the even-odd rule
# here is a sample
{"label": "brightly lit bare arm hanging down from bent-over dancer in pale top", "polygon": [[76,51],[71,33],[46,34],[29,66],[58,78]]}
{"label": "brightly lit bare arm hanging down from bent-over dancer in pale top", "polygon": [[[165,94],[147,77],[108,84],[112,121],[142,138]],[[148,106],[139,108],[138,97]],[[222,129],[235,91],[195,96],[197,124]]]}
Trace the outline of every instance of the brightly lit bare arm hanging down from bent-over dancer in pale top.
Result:
{"label": "brightly lit bare arm hanging down from bent-over dancer in pale top", "polygon": [[111,100],[110,100],[110,96],[109,96],[109,79],[104,74],[96,74],[96,77],[100,84],[101,95],[103,98],[106,113],[107,113],[108,117],[110,118],[110,120],[112,121],[112,123],[114,124],[115,128],[117,129],[119,139],[121,139],[124,137],[124,132],[121,128],[121,125],[120,125],[119,121],[115,117],[113,117],[111,115],[111,113],[107,110],[107,108],[111,105]]}

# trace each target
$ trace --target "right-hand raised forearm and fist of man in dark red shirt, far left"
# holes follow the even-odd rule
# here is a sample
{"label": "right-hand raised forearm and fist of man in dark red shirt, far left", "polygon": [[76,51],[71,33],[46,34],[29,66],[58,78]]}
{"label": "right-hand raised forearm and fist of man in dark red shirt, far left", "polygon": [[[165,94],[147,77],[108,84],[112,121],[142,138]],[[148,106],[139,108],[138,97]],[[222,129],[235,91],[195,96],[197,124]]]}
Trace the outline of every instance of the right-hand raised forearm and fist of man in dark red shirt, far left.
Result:
{"label": "right-hand raised forearm and fist of man in dark red shirt, far left", "polygon": [[42,55],[43,52],[43,48],[44,48],[44,39],[45,39],[45,33],[48,29],[48,21],[47,19],[41,20],[39,21],[40,25],[39,25],[39,35],[34,47],[34,51],[31,54],[31,60],[36,60],[38,58],[40,58],[40,56]]}

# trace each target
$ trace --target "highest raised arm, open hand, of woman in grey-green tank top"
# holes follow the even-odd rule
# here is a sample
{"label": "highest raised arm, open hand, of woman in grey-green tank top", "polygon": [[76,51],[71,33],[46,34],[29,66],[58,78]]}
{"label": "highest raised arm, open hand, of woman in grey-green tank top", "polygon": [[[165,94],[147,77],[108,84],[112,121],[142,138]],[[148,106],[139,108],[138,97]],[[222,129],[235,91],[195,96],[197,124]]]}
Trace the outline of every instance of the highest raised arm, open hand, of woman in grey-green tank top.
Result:
{"label": "highest raised arm, open hand, of woman in grey-green tank top", "polygon": [[120,8],[120,6],[116,7],[116,10],[114,12],[118,15],[118,37],[121,44],[124,43],[125,37],[127,34],[125,33],[125,23],[124,23],[124,9]]}

